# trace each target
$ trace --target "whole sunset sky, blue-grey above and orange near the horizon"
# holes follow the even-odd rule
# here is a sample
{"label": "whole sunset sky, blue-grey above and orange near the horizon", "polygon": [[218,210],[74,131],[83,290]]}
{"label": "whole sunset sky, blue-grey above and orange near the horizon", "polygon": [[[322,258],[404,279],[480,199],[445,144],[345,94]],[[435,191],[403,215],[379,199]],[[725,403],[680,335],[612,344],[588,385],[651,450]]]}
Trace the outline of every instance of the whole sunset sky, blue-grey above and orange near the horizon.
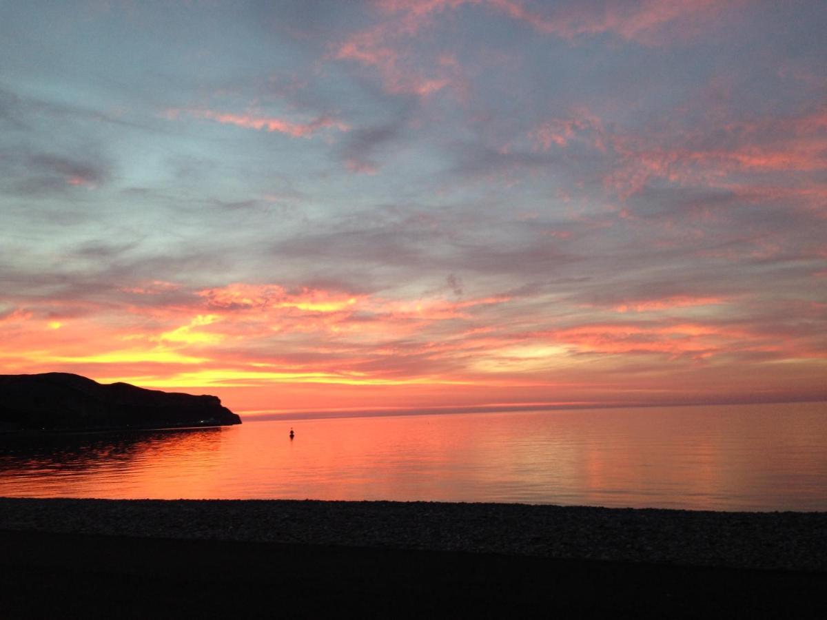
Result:
{"label": "whole sunset sky, blue-grey above and orange near the horizon", "polygon": [[827,399],[825,31],[0,0],[0,372],[251,415]]}

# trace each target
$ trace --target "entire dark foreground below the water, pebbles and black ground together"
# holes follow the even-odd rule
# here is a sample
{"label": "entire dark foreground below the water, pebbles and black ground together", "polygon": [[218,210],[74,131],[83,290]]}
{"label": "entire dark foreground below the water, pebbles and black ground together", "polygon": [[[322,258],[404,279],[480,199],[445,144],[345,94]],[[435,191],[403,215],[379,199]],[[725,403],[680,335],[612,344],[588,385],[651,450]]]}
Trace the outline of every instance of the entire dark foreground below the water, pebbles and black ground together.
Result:
{"label": "entire dark foreground below the water, pebbles and black ground together", "polygon": [[[721,543],[717,520],[731,549],[748,545],[751,537],[758,552],[723,567],[709,565],[703,550],[687,551],[680,561],[653,562],[638,548],[658,537],[695,541],[693,536],[702,533],[699,517],[705,527],[713,527],[707,532],[712,546]],[[731,532],[730,518],[740,523]],[[294,519],[301,522],[290,527]],[[273,524],[282,520],[274,531]],[[543,531],[534,529],[540,522]],[[772,535],[770,526],[785,522],[790,529]],[[233,532],[245,523],[241,533]],[[590,557],[605,556],[606,549],[599,547],[622,535],[622,528],[612,529],[617,523],[628,533],[609,545],[609,555],[625,545],[630,560],[559,557],[559,551],[557,556],[549,551],[571,551],[591,540],[597,548]],[[601,532],[606,527],[612,536]],[[189,538],[174,536],[176,528],[189,532]],[[398,539],[403,530],[409,531],[404,540],[385,537],[390,531]],[[298,541],[297,532],[307,539]],[[549,544],[550,537],[566,532],[577,540],[569,546]],[[762,540],[765,535],[770,538]],[[485,551],[494,546],[492,536],[499,541],[498,552]],[[825,536],[825,515],[815,513],[0,499],[0,618],[556,613],[815,618],[827,614]],[[531,540],[536,548],[526,542]],[[675,549],[680,542],[673,541]],[[785,569],[747,567],[796,546],[801,548],[786,557]],[[800,557],[797,568],[791,557]]]}

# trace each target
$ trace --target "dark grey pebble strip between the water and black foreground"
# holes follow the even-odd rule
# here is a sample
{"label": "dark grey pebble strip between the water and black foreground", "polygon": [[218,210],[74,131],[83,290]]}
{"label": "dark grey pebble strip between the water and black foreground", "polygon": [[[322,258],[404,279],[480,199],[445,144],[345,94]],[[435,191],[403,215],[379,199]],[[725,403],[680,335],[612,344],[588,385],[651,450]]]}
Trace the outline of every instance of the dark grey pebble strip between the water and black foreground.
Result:
{"label": "dark grey pebble strip between the water and black foreground", "polygon": [[0,498],[0,529],[827,572],[827,513],[505,503]]}

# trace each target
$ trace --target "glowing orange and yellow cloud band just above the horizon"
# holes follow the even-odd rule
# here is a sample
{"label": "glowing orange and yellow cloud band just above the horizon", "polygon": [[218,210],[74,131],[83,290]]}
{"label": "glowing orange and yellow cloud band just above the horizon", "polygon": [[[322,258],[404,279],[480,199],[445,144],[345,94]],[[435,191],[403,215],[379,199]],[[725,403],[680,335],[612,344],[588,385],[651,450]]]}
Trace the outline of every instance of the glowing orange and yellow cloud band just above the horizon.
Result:
{"label": "glowing orange and yellow cloud band just above the horizon", "polygon": [[[825,355],[809,336],[794,331],[771,333],[760,325],[724,325],[714,319],[591,320],[554,328],[561,315],[547,316],[537,312],[538,300],[526,306],[526,300],[509,295],[384,298],[249,283],[191,293],[170,283],[122,289],[143,296],[154,287],[162,293],[174,289],[175,305],[124,302],[115,308],[109,302],[64,319],[60,303],[35,310],[7,304],[0,315],[2,366],[7,372],[65,370],[162,389],[211,390],[231,407],[247,403],[246,408],[261,409],[463,399],[490,403],[515,389],[527,402],[552,394],[582,400],[586,393],[605,401],[618,398],[619,373],[632,377],[639,366],[659,369],[661,358],[682,371],[760,355],[763,364],[810,364],[815,373],[819,362],[813,360]],[[723,301],[672,296],[624,305],[627,312],[650,312]],[[810,306],[813,317],[824,311]],[[602,312],[569,309],[581,317]],[[54,329],[57,322],[60,328]],[[741,368],[739,362],[731,366]],[[759,368],[743,364],[753,372]],[[765,367],[756,376],[767,372]],[[644,384],[655,390],[668,379],[660,376],[647,374]],[[595,384],[611,377],[610,389],[596,396]],[[642,384],[628,379],[624,385],[633,391]]]}

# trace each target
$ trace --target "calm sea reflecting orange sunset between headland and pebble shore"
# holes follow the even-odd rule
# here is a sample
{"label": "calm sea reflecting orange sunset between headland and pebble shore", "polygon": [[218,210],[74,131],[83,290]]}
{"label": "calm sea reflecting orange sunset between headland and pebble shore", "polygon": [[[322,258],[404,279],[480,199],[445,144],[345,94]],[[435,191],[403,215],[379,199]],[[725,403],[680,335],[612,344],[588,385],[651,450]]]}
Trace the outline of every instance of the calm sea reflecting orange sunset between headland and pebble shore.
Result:
{"label": "calm sea reflecting orange sunset between headland and pebble shore", "polygon": [[0,441],[7,496],[827,510],[827,403],[354,417]]}

